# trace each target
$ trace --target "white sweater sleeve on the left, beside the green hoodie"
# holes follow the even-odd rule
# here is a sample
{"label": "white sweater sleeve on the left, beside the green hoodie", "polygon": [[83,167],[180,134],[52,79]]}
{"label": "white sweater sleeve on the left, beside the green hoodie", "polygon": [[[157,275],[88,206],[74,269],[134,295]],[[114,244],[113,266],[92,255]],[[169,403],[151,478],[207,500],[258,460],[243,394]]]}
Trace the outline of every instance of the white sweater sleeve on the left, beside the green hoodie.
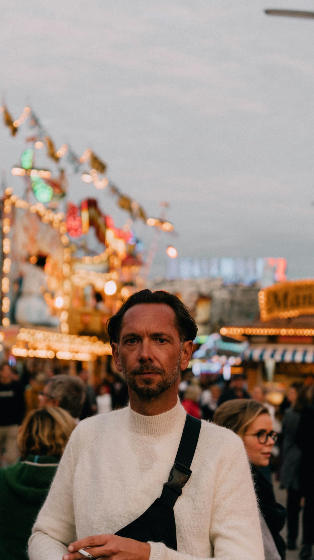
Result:
{"label": "white sweater sleeve on the left, beside the green hoodie", "polygon": [[67,552],[68,544],[76,540],[73,474],[70,438],[29,539],[30,560],[60,560]]}

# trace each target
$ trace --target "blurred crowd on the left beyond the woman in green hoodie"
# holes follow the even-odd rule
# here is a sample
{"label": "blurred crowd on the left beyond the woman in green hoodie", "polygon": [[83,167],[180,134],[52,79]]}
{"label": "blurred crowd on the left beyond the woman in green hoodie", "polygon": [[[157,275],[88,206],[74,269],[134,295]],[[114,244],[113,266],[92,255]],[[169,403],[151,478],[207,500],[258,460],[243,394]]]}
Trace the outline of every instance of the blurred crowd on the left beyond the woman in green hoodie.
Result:
{"label": "blurred crowd on the left beyond the woman in green hoodie", "polygon": [[127,384],[121,376],[108,372],[101,385],[88,382],[80,370],[70,376],[67,370],[44,370],[38,362],[25,364],[19,375],[8,362],[0,366],[0,466],[11,465],[19,458],[17,431],[27,413],[45,405],[58,405],[77,421],[96,413],[110,412],[128,403]]}

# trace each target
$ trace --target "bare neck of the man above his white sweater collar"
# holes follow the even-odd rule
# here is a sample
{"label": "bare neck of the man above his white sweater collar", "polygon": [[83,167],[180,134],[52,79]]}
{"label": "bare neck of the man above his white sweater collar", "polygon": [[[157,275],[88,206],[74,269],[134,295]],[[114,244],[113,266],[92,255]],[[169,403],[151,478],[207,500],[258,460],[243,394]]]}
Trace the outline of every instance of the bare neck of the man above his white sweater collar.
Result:
{"label": "bare neck of the man above his white sweater collar", "polygon": [[176,406],[178,401],[177,391],[169,391],[169,389],[158,396],[147,399],[138,395],[135,391],[128,387],[130,406],[134,412],[142,414],[143,416],[156,416],[157,414],[168,412],[168,410],[171,410]]}

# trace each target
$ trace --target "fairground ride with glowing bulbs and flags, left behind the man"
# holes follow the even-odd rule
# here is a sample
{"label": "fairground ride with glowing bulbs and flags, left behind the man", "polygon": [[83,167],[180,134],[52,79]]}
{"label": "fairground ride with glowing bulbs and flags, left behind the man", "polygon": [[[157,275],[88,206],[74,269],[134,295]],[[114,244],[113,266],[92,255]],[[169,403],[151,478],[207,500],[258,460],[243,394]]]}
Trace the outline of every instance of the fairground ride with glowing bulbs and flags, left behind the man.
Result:
{"label": "fairground ride with glowing bulbs and flags, left behind the man", "polygon": [[[91,148],[81,156],[67,144],[57,149],[30,107],[16,120],[6,105],[0,112],[12,136],[22,125],[27,133],[19,165],[11,170],[23,181],[23,194],[5,185],[1,204],[2,346],[17,359],[70,361],[72,371],[76,361],[103,362],[111,354],[108,318],[145,286],[156,239],[174,227],[165,217],[148,217],[137,200],[109,181],[107,165]],[[48,166],[36,163],[43,148]],[[69,166],[89,190],[79,204],[68,200]],[[121,228],[102,211],[91,188],[107,189],[128,213]],[[146,261],[137,220],[158,232]]]}

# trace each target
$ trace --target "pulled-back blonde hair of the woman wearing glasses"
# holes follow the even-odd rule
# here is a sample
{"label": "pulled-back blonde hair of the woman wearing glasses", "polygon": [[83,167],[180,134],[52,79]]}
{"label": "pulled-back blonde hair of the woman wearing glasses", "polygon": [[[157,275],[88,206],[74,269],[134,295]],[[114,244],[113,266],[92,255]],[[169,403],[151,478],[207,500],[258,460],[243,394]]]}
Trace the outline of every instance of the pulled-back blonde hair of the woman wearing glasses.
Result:
{"label": "pulled-back blonde hair of the woman wearing glasses", "polygon": [[257,400],[227,400],[215,410],[213,422],[218,426],[229,428],[243,439],[248,426],[260,414],[269,414],[269,410]]}

